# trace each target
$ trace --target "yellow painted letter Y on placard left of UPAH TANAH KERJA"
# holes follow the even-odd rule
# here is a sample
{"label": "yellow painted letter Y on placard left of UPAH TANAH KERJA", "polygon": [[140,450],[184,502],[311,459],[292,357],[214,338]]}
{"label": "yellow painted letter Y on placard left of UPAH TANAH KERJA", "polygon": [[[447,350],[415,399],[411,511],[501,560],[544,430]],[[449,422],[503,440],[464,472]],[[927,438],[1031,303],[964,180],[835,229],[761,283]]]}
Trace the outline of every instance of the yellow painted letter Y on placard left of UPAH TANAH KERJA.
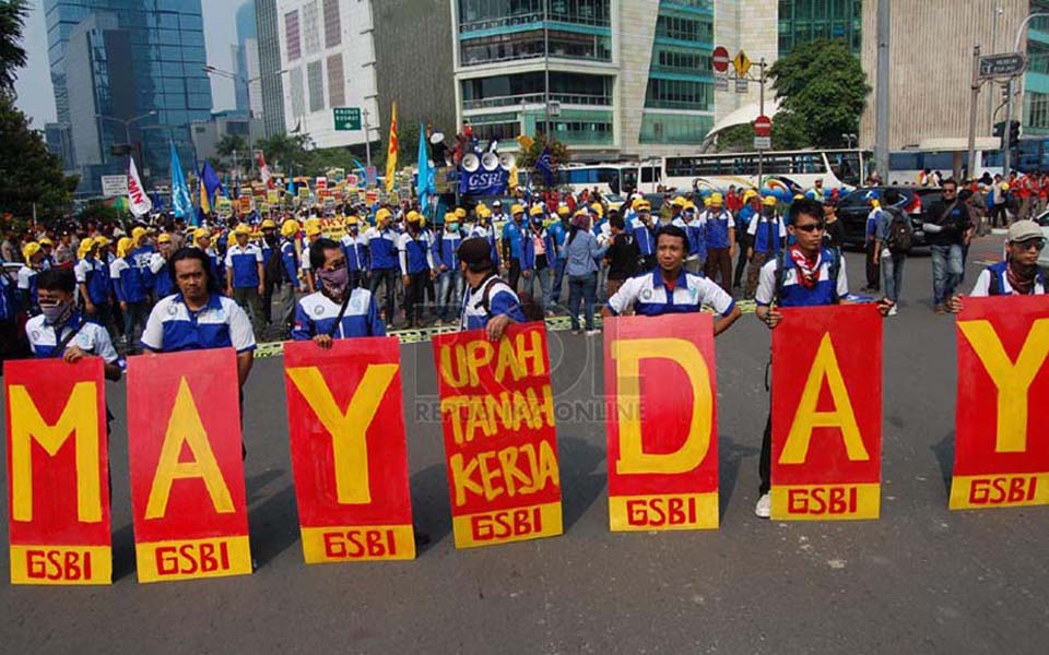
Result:
{"label": "yellow painted letter Y on placard left of UPAH TANAH KERJA", "polygon": [[368,504],[372,485],[368,479],[368,426],[386,390],[393,381],[399,365],[374,364],[364,371],[345,414],[335,404],[328,383],[317,367],[287,369],[299,393],[317,414],[331,434],[332,458],[335,464],[335,495],[341,504]]}

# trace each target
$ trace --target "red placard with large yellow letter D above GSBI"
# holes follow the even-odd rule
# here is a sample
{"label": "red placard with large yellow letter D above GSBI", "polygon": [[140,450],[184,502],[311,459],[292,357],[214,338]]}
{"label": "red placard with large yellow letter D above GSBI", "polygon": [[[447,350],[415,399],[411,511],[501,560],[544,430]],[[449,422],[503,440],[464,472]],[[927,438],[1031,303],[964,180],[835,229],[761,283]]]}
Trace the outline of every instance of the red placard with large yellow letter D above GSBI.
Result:
{"label": "red placard with large yellow letter D above GSBI", "polygon": [[714,320],[604,323],[613,532],[718,527]]}

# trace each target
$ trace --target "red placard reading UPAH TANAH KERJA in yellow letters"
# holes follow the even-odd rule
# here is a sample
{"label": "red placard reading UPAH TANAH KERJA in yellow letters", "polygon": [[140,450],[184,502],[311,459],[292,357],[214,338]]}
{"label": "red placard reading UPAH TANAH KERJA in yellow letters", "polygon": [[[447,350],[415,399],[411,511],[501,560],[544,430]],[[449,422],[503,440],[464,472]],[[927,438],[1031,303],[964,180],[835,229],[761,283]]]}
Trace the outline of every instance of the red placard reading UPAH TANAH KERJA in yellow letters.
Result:
{"label": "red placard reading UPAH TANAH KERJA in yellow letters", "polygon": [[434,336],[457,548],[562,534],[546,329]]}

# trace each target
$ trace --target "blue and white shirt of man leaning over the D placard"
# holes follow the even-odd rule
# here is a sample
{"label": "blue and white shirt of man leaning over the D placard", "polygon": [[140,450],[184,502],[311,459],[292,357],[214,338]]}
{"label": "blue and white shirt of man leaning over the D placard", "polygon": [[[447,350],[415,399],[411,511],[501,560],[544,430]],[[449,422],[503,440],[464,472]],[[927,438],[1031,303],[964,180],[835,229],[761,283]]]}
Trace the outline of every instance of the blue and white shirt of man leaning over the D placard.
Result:
{"label": "blue and white shirt of man leaning over the D placard", "polygon": [[682,269],[669,289],[662,270],[656,269],[627,279],[614,296],[609,298],[609,309],[621,314],[632,307],[639,315],[658,317],[668,313],[700,311],[709,305],[722,317],[732,313],[735,301],[717,284],[700,275]]}

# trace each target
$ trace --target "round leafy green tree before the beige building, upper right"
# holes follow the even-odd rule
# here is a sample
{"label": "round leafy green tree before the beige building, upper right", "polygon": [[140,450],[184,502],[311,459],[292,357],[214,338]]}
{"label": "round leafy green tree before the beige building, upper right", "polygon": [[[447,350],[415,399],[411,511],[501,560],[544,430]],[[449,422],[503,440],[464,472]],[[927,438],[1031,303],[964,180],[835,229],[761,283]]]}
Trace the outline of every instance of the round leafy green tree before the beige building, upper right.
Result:
{"label": "round leafy green tree before the beige building, upper right", "polygon": [[803,129],[806,145],[840,147],[842,134],[859,131],[871,87],[859,58],[844,40],[797,46],[773,64],[769,75],[780,99],[777,119],[789,128],[782,136],[794,140]]}

